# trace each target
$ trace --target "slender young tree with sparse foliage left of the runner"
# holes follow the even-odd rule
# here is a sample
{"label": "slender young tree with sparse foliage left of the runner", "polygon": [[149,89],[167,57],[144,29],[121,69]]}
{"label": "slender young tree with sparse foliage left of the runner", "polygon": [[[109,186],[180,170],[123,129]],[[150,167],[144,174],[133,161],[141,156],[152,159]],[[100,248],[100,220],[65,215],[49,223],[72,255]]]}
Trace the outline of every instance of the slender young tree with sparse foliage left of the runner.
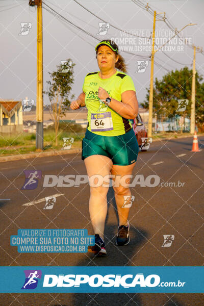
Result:
{"label": "slender young tree with sparse foliage left of the runner", "polygon": [[71,59],[65,61],[64,64],[57,66],[57,71],[48,72],[51,81],[47,81],[48,89],[44,91],[49,98],[49,113],[52,117],[55,126],[55,144],[58,145],[58,130],[59,121],[65,115],[65,112],[69,110],[71,100],[74,95],[70,96],[72,84],[73,84],[73,67]]}

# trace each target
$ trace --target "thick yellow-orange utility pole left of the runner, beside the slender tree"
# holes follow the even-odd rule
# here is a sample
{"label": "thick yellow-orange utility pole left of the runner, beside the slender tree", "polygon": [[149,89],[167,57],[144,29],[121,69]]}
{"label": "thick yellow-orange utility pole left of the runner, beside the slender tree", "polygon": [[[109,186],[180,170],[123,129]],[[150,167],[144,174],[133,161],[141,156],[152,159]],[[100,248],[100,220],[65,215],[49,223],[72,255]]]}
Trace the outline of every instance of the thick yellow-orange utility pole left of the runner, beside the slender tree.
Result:
{"label": "thick yellow-orange utility pole left of the runner, beside the slender tree", "polygon": [[29,1],[37,5],[37,100],[36,100],[36,149],[43,150],[43,59],[42,59],[42,0]]}

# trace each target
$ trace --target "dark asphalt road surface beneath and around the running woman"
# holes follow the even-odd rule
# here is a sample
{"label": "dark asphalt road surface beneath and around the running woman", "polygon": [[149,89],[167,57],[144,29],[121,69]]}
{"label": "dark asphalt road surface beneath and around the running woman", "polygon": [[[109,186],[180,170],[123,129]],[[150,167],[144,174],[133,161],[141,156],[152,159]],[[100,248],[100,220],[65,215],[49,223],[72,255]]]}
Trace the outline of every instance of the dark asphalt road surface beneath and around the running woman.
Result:
{"label": "dark asphalt road surface beneath and around the running woman", "polygon": [[[204,137],[199,137],[203,148]],[[130,213],[131,243],[115,245],[117,213],[113,188],[109,188],[109,210],[106,222],[106,258],[93,258],[91,253],[18,253],[10,246],[10,236],[19,228],[87,228],[89,220],[89,185],[43,188],[45,174],[86,174],[81,154],[5,162],[0,164],[0,261],[2,266],[202,266],[204,263],[203,228],[203,155],[191,152],[192,138],[153,142],[140,152],[134,175],[158,175],[157,187],[132,187],[135,196]],[[21,190],[24,170],[41,170],[42,178],[34,190]],[[162,187],[171,182],[183,187]],[[180,184],[181,185],[181,184]],[[166,184],[167,186],[167,184]],[[57,197],[53,209],[43,210],[44,197]],[[10,200],[3,200],[10,199]],[[25,203],[41,202],[24,206]],[[174,235],[170,247],[162,247],[163,235]],[[203,294],[1,294],[1,306],[8,305],[138,305],[138,306],[203,306]]]}

